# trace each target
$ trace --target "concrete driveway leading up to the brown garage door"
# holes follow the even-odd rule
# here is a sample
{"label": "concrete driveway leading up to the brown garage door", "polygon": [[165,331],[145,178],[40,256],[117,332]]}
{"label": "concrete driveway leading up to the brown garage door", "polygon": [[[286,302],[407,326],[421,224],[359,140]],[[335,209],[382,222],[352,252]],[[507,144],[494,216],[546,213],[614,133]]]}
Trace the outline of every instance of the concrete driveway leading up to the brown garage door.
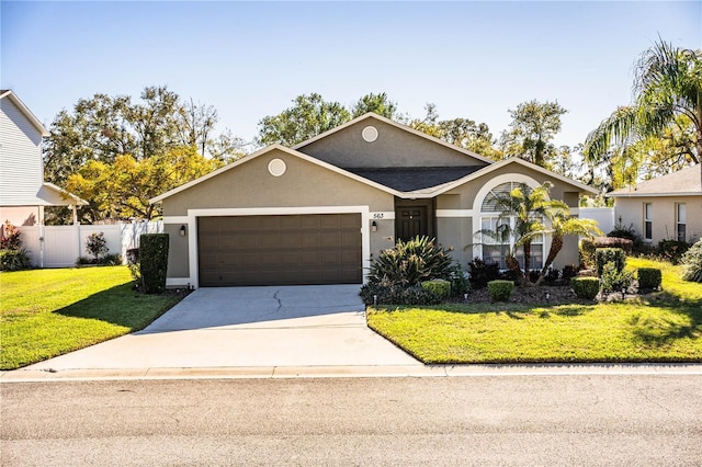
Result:
{"label": "concrete driveway leading up to the brown garage door", "polygon": [[364,308],[358,285],[200,288],[140,332],[24,369],[421,366]]}

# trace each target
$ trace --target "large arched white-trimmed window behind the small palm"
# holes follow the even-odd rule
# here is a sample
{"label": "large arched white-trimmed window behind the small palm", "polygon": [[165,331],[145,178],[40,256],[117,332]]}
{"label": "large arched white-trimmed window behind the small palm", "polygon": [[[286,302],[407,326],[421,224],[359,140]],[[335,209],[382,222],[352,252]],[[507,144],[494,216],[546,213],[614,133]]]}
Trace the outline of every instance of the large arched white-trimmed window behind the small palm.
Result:
{"label": "large arched white-trimmed window behind the small palm", "polygon": [[[514,227],[514,217],[502,217],[500,219],[500,213],[497,207],[497,198],[500,195],[508,194],[516,187],[520,186],[521,183],[518,182],[507,182],[501,183],[495,186],[483,200],[483,204],[480,206],[480,230],[490,230],[492,232],[498,231],[499,226],[506,223],[509,223],[510,227],[513,230]],[[501,270],[507,269],[507,264],[505,262],[507,254],[514,246],[514,238],[506,239],[505,241],[500,241],[498,238],[494,238],[489,235],[483,235],[482,237],[482,247],[483,247],[483,261],[498,263]],[[544,243],[545,238],[543,235],[535,237],[531,242],[531,259],[529,261],[530,270],[539,270],[543,266],[544,263]],[[514,257],[519,261],[519,264],[524,267],[524,249],[519,248],[514,252]]]}

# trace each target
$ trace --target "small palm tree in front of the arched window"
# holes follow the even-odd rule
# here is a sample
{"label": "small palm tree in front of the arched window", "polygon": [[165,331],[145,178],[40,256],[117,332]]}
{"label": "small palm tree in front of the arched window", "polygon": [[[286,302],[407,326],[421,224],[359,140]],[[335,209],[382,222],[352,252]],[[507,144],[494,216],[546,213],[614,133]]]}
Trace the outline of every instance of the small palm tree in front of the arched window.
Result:
{"label": "small palm tree in front of the arched window", "polygon": [[[552,187],[551,182],[544,182],[533,190],[521,183],[509,193],[495,194],[496,208],[500,213],[497,229],[479,231],[483,236],[509,246],[505,262],[522,286],[530,283],[531,243],[537,236],[547,232],[544,225],[547,212],[564,206],[563,202],[548,198]],[[517,260],[517,250],[520,248],[524,252],[524,271]]]}

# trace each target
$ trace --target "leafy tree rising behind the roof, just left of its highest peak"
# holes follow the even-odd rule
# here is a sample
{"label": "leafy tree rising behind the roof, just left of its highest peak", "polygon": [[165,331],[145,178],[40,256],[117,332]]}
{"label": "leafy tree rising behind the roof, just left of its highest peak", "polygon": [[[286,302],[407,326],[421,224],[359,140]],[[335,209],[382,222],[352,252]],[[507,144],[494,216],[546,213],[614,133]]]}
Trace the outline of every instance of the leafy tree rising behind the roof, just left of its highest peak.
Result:
{"label": "leafy tree rising behind the roof, just left of its highest peak", "polygon": [[321,95],[298,95],[295,103],[278,115],[259,122],[260,145],[295,146],[351,119],[351,114],[338,102],[327,102]]}

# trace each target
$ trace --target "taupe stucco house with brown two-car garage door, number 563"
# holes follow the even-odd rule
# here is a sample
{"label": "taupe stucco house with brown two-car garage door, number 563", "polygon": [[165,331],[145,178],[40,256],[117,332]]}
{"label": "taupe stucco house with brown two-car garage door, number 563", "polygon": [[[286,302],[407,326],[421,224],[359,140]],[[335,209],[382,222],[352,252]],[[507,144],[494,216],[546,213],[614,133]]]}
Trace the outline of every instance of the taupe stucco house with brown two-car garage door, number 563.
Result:
{"label": "taupe stucco house with brown two-car garage door, number 563", "polygon": [[[366,114],[293,148],[263,148],[151,200],[170,234],[169,286],[362,283],[373,257],[397,239],[435,237],[465,269],[495,227],[494,193],[554,183],[577,214],[595,190],[521,159],[486,159],[385,117]],[[548,239],[536,239],[532,267]],[[578,262],[570,239],[557,266]]]}

